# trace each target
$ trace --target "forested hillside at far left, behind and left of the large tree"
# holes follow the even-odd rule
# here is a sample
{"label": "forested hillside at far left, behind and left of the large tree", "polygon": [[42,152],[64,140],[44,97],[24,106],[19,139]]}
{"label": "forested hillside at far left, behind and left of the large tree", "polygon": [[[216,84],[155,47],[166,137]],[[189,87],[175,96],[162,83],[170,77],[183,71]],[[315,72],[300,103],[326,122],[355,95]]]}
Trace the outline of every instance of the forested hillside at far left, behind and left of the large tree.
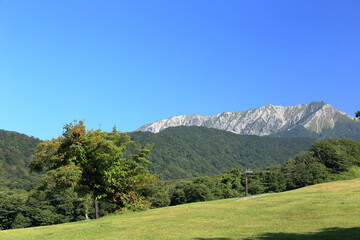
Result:
{"label": "forested hillside at far left, behind and left of the large tree", "polygon": [[0,189],[28,188],[38,179],[28,164],[39,139],[17,132],[0,130]]}

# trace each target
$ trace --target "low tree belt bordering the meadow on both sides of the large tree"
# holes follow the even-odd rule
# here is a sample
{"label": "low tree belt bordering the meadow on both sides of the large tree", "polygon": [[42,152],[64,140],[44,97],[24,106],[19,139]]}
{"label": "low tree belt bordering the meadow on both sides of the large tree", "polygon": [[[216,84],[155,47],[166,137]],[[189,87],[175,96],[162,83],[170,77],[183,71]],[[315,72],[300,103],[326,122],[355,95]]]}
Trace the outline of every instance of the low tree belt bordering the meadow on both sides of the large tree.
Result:
{"label": "low tree belt bordering the meadow on both sides of the large tree", "polygon": [[[233,168],[213,177],[157,181],[139,190],[143,204],[157,208],[190,202],[244,196],[244,168]],[[315,142],[308,151],[286,163],[254,169],[249,175],[249,193],[281,192],[312,184],[360,177],[360,142],[328,139]],[[141,210],[143,210],[142,208]],[[100,201],[100,215],[119,209]],[[136,209],[132,209],[136,210]],[[140,209],[139,209],[140,210]],[[90,199],[71,189],[61,193],[46,185],[30,190],[0,191],[0,227],[21,228],[94,218]]]}

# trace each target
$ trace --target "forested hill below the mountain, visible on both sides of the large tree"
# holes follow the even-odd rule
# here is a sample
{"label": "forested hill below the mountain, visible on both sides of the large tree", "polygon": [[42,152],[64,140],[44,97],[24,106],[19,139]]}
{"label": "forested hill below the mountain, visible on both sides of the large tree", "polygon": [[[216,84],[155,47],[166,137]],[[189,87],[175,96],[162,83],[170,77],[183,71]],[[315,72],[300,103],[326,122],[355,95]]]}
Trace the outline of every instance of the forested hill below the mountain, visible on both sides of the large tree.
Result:
{"label": "forested hill below the mountain, visible on both sides of the large tree", "polygon": [[[151,144],[150,170],[162,179],[218,175],[230,168],[265,168],[282,164],[309,149],[312,138],[238,135],[206,127],[168,128],[158,134],[132,132],[141,145]],[[38,180],[30,173],[39,139],[0,130],[0,188],[29,188]]]}

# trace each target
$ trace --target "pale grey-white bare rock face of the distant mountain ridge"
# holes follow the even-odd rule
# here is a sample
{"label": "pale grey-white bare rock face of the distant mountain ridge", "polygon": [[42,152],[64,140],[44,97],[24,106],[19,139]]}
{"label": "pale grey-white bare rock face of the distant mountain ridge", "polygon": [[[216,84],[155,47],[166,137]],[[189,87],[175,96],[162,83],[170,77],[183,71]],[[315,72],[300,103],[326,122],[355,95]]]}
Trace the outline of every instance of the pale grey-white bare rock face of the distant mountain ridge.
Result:
{"label": "pale grey-white bare rock face of the distant mountain ridge", "polygon": [[320,133],[333,128],[339,118],[355,120],[329,104],[313,102],[291,107],[265,105],[261,108],[240,112],[223,112],[214,116],[181,115],[146,124],[136,131],[160,132],[168,127],[204,126],[238,134],[271,135],[296,126]]}

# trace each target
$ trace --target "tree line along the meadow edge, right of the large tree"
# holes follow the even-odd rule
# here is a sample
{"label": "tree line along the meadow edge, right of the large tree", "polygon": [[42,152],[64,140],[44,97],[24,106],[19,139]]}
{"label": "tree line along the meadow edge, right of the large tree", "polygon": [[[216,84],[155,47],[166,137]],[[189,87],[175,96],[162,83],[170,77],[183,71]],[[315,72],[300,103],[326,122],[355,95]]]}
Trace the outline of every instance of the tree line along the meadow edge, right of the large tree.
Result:
{"label": "tree line along the meadow edge, right of the large tree", "polygon": [[[144,195],[153,207],[239,197],[244,195],[244,168],[233,168],[216,177],[159,181]],[[249,174],[249,193],[292,190],[312,184],[360,177],[360,142],[328,139],[315,142],[308,151],[286,163]]]}

